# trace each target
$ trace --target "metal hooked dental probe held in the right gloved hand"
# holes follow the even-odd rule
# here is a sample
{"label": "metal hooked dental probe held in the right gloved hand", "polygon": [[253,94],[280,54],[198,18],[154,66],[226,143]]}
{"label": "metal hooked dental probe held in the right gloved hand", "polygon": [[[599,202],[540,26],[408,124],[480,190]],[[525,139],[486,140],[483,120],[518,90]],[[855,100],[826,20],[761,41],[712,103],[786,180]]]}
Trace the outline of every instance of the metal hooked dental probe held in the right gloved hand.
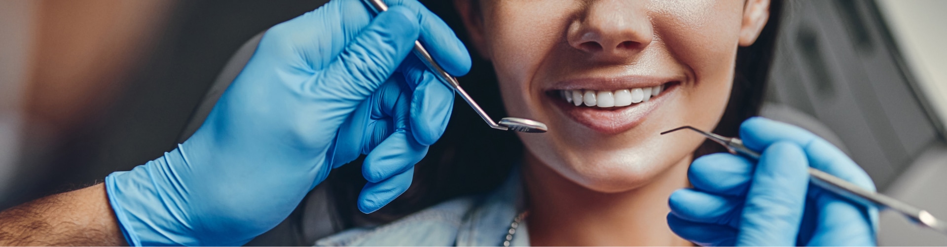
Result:
{"label": "metal hooked dental probe held in the right gloved hand", "polygon": [[[667,132],[661,132],[661,134],[676,132],[684,129],[704,134],[707,139],[724,145],[726,150],[730,153],[752,158],[753,160],[759,160],[759,152],[747,149],[746,146],[743,146],[743,141],[740,138],[724,137],[716,133],[697,130],[696,128],[690,126],[684,126]],[[938,219],[934,218],[934,216],[927,212],[927,210],[921,210],[920,208],[903,203],[897,199],[885,196],[884,194],[867,190],[859,185],[851,184],[844,179],[832,176],[831,174],[816,168],[809,168],[809,176],[813,185],[825,188],[826,190],[834,192],[835,194],[845,197],[856,203],[874,204],[884,208],[892,209],[911,219],[915,223],[931,228],[940,234],[947,235],[947,225],[945,225],[945,222],[938,221]]]}

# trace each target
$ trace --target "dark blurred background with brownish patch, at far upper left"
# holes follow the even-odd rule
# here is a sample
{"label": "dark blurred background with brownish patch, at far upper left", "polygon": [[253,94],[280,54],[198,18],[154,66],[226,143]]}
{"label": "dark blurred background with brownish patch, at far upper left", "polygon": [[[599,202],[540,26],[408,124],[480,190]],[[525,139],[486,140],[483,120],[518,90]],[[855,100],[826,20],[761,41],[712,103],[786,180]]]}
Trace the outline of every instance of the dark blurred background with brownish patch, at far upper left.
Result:
{"label": "dark blurred background with brownish patch, at far upper left", "polygon": [[241,44],[324,1],[23,2],[35,54],[22,89],[27,136],[0,208],[174,149]]}

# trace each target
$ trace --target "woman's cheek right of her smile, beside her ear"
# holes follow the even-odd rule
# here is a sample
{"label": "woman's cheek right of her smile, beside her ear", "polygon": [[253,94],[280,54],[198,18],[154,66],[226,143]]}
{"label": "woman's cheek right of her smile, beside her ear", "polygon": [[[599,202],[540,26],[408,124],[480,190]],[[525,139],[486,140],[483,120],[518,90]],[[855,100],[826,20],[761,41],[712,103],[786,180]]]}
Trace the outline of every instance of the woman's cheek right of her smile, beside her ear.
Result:
{"label": "woman's cheek right of her smile, beside her ear", "polygon": [[694,84],[683,97],[688,122],[716,127],[730,96],[742,22],[740,1],[661,2],[653,25],[672,56],[686,64]]}

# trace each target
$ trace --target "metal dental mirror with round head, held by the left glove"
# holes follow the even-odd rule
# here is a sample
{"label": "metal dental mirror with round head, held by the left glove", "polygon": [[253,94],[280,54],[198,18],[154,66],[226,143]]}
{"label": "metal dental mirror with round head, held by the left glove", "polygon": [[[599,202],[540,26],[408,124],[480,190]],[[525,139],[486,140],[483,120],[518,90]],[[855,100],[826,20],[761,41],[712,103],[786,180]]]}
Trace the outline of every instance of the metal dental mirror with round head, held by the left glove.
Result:
{"label": "metal dental mirror with round head, held by the left glove", "polygon": [[[366,1],[371,3],[371,5],[375,8],[375,11],[379,13],[388,10],[388,6],[384,4],[383,0]],[[417,55],[418,58],[420,58],[420,61],[424,62],[428,68],[431,68],[437,72],[437,74],[440,76],[440,79],[451,85],[457,94],[460,95],[464,101],[467,101],[467,104],[469,104],[471,108],[474,108],[474,112],[476,112],[477,115],[480,115],[480,117],[483,118],[483,120],[486,121],[491,128],[517,132],[547,131],[545,124],[542,122],[519,117],[504,117],[503,119],[500,119],[500,122],[498,123],[493,122],[493,118],[490,118],[490,115],[487,115],[487,112],[484,112],[483,109],[480,108],[480,105],[477,105],[476,102],[474,102],[474,98],[471,98],[470,95],[467,95],[467,91],[464,91],[464,89],[460,87],[460,82],[457,82],[457,79],[451,76],[451,74],[447,74],[447,71],[444,71],[444,69],[438,65],[438,62],[434,61],[434,58],[431,57],[431,54],[427,52],[427,49],[425,49],[424,46],[420,44],[420,41],[415,41],[414,54]]]}

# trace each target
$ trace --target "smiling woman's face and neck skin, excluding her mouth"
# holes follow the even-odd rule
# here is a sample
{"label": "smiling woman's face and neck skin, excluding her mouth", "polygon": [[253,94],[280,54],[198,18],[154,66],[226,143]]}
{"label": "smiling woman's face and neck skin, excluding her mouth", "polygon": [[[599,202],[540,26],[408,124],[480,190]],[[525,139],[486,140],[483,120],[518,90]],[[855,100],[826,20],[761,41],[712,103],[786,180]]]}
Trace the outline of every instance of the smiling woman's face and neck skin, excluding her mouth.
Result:
{"label": "smiling woman's face and neck skin, excluding her mouth", "polygon": [[[667,226],[668,197],[688,185],[696,134],[724,114],[739,46],[753,44],[768,0],[456,0],[490,60],[509,115],[545,122],[519,133],[533,245],[689,245]],[[474,6],[476,5],[476,6]],[[550,88],[568,79],[673,79],[649,115],[601,131],[563,114]]]}

